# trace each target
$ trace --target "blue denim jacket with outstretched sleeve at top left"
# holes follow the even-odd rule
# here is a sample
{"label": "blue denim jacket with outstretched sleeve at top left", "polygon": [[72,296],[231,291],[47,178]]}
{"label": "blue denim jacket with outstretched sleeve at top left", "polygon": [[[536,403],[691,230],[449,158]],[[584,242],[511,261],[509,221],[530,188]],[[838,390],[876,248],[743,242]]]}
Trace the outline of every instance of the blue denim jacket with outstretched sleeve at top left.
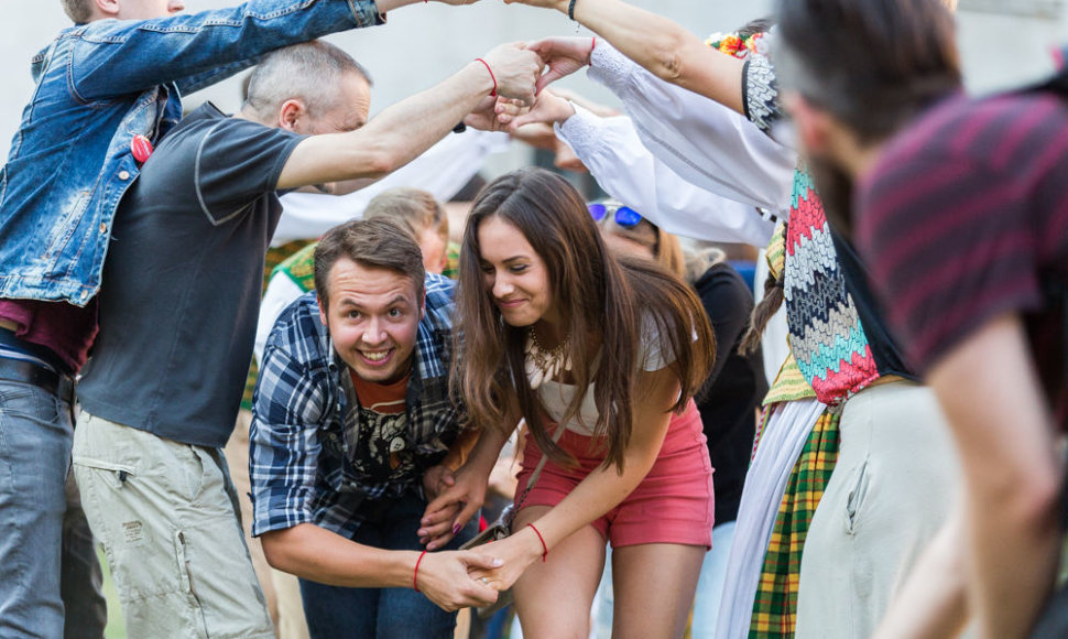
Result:
{"label": "blue denim jacket with outstretched sleeve at top left", "polygon": [[59,33],[0,169],[0,297],[84,306],[100,286],[111,221],[138,177],[134,136],[159,140],[181,96],[274,48],[381,24],[374,0],[250,0]]}

